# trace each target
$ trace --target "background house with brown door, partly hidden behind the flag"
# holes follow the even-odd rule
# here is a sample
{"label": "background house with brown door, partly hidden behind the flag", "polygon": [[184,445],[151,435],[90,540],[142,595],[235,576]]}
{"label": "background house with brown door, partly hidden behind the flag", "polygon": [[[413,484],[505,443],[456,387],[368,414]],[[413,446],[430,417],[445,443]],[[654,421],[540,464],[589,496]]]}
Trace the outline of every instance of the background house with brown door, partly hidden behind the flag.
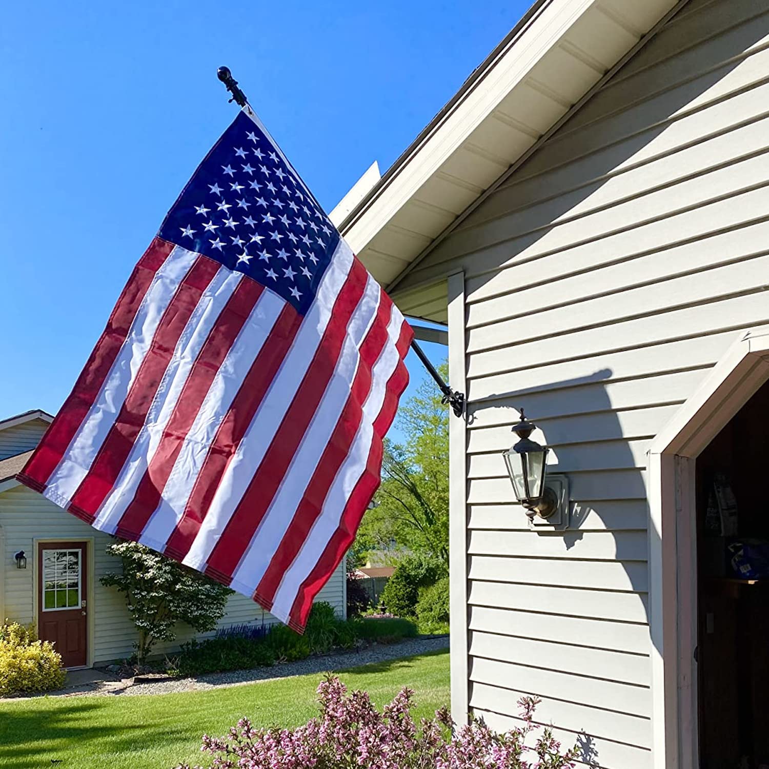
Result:
{"label": "background house with brown door, partly hidden behind the flag", "polygon": [[[90,667],[129,657],[137,634],[123,595],[99,582],[120,568],[106,552],[112,538],[16,481],[52,419],[45,411],[26,411],[0,421],[0,618],[34,623],[41,638],[56,641],[65,665]],[[19,551],[24,569],[17,568]],[[52,589],[43,589],[46,584]],[[345,614],[344,561],[317,600]],[[219,626],[275,621],[258,604],[233,594]],[[182,626],[174,644],[158,644],[155,651],[174,651],[194,635]]]}

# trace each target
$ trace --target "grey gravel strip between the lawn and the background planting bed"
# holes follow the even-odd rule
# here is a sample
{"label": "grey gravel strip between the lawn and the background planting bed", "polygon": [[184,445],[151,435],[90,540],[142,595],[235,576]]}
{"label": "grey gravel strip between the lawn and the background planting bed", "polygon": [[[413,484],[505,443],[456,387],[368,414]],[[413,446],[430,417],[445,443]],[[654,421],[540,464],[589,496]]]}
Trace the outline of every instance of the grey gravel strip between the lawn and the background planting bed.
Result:
{"label": "grey gravel strip between the lawn and the background planting bed", "polygon": [[[348,667],[358,667],[358,665],[393,660],[399,657],[411,657],[414,654],[424,654],[427,651],[447,647],[448,635],[437,638],[411,638],[398,644],[373,644],[361,651],[327,654],[324,657],[308,657],[306,660],[288,662],[274,665],[273,667],[255,667],[249,671],[211,673],[195,678],[175,678],[172,681],[136,683],[122,691],[105,691],[104,694],[112,694],[113,696],[120,694],[122,697],[127,697],[134,694],[173,694],[180,691],[205,691],[219,686],[238,686],[251,684],[254,681],[269,681],[275,678],[345,670]],[[94,694],[100,693],[94,692]]]}

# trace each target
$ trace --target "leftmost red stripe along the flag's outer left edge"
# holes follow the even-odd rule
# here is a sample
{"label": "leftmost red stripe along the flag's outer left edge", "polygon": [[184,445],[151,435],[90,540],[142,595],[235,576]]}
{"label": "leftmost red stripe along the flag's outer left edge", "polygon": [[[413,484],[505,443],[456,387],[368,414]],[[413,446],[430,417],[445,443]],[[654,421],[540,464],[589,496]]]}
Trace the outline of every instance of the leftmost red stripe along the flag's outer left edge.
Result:
{"label": "leftmost red stripe along the flag's outer left edge", "polygon": [[172,243],[155,238],[139,259],[75,387],[45,432],[37,451],[18,474],[18,480],[23,484],[35,491],[45,490],[48,479],[62,461],[72,438],[75,438],[88,410],[102,390],[155,273],[173,249]]}

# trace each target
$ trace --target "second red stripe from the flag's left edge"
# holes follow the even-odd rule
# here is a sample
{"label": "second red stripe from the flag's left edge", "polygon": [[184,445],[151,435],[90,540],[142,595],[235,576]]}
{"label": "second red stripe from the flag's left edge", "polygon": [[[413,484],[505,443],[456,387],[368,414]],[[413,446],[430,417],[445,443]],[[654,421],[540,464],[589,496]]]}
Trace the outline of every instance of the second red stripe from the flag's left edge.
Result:
{"label": "second red stripe from the flag's left edge", "polygon": [[98,511],[112,490],[118,474],[128,458],[136,437],[145,423],[147,412],[162,381],[168,361],[184,331],[192,311],[221,265],[200,256],[189,269],[176,290],[155,330],[152,344],[141,361],[135,380],[125,397],[120,412],[112,424],[104,443],[72,496],[68,509],[90,515]]}

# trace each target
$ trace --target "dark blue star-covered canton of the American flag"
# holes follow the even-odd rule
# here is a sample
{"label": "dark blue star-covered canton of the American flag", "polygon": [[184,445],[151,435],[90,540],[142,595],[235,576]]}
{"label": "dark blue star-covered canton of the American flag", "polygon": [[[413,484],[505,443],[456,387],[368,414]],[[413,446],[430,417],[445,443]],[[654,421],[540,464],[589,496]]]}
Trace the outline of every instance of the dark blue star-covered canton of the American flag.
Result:
{"label": "dark blue star-covered canton of the American flag", "polygon": [[302,315],[339,240],[294,168],[244,112],[198,166],[158,235],[244,272]]}

